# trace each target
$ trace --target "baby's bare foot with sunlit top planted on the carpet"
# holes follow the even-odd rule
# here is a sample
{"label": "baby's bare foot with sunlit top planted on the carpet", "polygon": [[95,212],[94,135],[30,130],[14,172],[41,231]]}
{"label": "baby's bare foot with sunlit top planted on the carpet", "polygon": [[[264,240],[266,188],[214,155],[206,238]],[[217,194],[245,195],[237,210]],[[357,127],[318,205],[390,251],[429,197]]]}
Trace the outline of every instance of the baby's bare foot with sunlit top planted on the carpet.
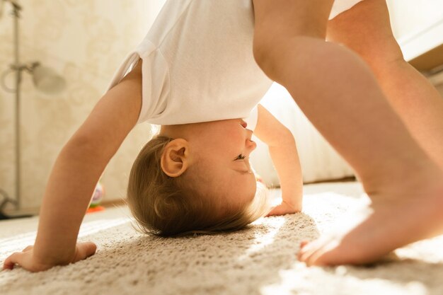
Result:
{"label": "baby's bare foot with sunlit top planted on the carpet", "polygon": [[443,233],[443,177],[433,178],[396,195],[371,196],[370,206],[345,216],[328,236],[302,242],[299,260],[306,265],[375,262],[403,245]]}

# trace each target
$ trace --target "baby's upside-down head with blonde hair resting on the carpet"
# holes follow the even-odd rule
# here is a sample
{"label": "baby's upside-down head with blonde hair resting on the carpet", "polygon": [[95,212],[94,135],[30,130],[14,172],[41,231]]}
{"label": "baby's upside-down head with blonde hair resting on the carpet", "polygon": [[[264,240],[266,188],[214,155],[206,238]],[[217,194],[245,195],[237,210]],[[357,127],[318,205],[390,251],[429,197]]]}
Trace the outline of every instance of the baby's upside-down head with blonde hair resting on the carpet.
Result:
{"label": "baby's upside-down head with blonde hair resting on the carpet", "polygon": [[163,126],[132,166],[127,202],[145,233],[240,229],[267,213],[241,119]]}

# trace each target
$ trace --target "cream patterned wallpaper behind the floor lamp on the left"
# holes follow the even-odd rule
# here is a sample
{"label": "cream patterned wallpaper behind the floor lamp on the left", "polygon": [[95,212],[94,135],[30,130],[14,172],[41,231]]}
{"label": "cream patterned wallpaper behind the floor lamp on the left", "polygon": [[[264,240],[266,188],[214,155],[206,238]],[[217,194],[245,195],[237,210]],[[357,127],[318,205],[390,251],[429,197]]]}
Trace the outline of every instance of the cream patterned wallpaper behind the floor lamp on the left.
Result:
{"label": "cream patterned wallpaper behind the floor lamp on the left", "polygon": [[[50,169],[108,87],[115,70],[146,34],[164,1],[28,0],[20,20],[21,61],[39,61],[67,81],[55,96],[38,92],[24,73],[21,96],[23,209],[38,208]],[[11,6],[0,18],[0,73],[13,62]],[[13,87],[13,75],[6,84]],[[15,96],[0,88],[0,188],[15,196]],[[137,126],[103,174],[105,200],[125,195],[134,157],[151,135]]]}

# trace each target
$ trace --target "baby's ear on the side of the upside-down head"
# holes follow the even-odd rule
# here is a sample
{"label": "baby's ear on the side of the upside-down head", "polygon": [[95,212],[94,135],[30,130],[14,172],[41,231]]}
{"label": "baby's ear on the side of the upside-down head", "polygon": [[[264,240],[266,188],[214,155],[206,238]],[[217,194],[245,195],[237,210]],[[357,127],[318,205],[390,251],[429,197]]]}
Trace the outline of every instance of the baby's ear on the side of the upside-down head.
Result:
{"label": "baby's ear on the side of the upside-down head", "polygon": [[188,169],[189,145],[185,139],[173,139],[166,144],[161,154],[160,166],[166,175],[176,178]]}

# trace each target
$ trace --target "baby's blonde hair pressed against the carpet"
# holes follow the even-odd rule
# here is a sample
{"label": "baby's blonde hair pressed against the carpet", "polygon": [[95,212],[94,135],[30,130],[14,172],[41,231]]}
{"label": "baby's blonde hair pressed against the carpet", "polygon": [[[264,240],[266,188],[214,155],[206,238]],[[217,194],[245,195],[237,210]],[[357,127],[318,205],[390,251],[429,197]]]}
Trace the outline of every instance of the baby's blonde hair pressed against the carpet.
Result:
{"label": "baby's blonde hair pressed against the carpet", "polygon": [[178,178],[171,178],[160,166],[161,154],[172,141],[157,135],[140,151],[131,169],[127,187],[127,204],[142,233],[176,236],[188,233],[234,231],[269,212],[267,189],[257,183],[253,201],[231,207],[225,214],[217,212],[216,202],[202,195],[196,187],[194,171],[188,168]]}

